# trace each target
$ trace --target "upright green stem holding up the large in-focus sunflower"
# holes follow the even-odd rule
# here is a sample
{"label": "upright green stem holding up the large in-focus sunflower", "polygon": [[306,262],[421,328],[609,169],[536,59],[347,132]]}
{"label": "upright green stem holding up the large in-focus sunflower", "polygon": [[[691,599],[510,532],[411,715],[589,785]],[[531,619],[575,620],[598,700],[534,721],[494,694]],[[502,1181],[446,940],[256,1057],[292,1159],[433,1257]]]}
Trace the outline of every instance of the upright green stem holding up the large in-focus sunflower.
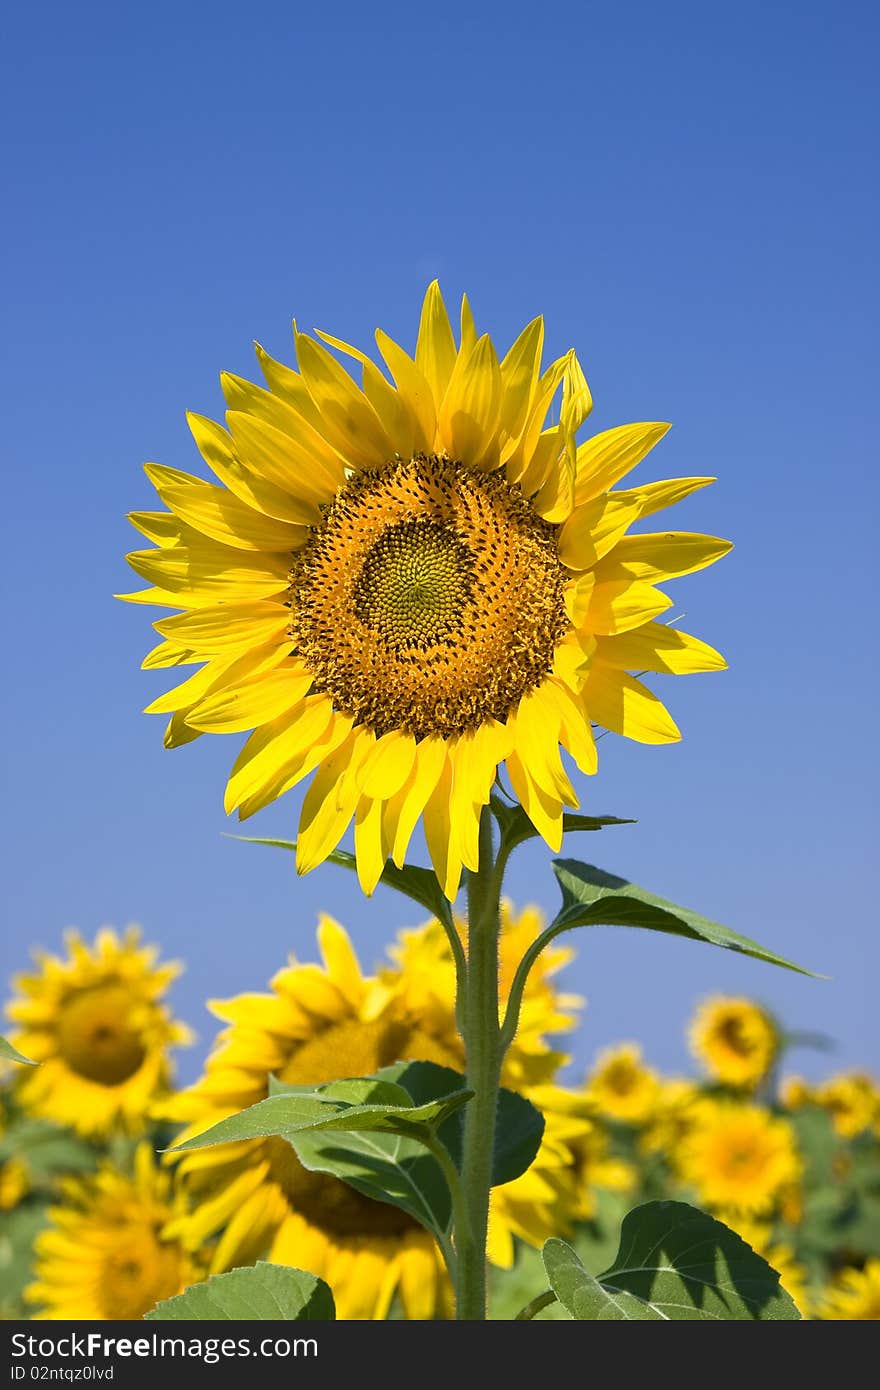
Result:
{"label": "upright green stem holding up the large in-focus sunflower", "polygon": [[467,1084],[474,1098],[464,1111],[462,1186],[467,1220],[456,1226],[456,1316],[484,1320],[487,1315],[485,1244],[495,1150],[495,1115],[500,1074],[498,1023],[498,934],[500,876],[492,845],[492,815],[480,817],[480,867],[467,874],[467,974],[463,1034]]}

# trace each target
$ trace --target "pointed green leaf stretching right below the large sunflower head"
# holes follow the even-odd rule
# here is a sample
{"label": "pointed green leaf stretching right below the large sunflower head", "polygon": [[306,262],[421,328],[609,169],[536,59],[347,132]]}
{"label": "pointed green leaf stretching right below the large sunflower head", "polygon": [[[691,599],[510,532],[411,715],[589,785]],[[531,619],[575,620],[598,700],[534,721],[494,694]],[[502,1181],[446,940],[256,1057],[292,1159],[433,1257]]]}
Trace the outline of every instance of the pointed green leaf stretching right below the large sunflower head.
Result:
{"label": "pointed green leaf stretching right below the large sunflower head", "polygon": [[571,927],[645,927],[648,931],[665,931],[674,937],[688,937],[691,941],[708,941],[710,945],[738,951],[756,960],[797,970],[798,974],[824,979],[773,951],[766,951],[756,941],[741,937],[719,922],[702,917],[690,908],[678,908],[666,898],[658,898],[656,894],[638,888],[627,878],[617,878],[596,869],[595,865],[578,863],[577,859],[555,859],[553,873],[562,888],[562,908],[546,929],[548,938]]}

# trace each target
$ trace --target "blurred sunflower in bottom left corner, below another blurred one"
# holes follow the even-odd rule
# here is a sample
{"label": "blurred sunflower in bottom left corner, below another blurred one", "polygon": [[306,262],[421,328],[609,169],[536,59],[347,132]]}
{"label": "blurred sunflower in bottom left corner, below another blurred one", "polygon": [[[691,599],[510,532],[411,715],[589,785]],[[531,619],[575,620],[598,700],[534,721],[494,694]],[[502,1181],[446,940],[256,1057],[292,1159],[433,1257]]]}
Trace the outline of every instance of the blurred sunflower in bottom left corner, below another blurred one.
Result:
{"label": "blurred sunflower in bottom left corner, below another blurred one", "polygon": [[202,1270],[164,1227],[179,1209],[171,1176],[139,1144],[133,1172],[104,1165],[88,1179],[67,1179],[64,1202],[36,1237],[35,1280],[25,1290],[35,1318],[142,1318],[161,1298],[181,1293]]}

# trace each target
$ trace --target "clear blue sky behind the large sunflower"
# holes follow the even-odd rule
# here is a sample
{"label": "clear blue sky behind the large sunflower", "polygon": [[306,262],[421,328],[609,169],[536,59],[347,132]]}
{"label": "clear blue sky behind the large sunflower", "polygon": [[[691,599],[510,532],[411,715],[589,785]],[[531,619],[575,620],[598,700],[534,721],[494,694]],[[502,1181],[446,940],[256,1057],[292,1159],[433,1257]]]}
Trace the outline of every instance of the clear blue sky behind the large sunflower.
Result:
{"label": "clear blue sky behind the large sunflower", "polygon": [[[502,342],[542,311],[595,428],[674,421],[645,477],[717,474],[677,524],[737,542],[673,587],[730,671],[667,682],[680,745],[603,739],[584,806],[638,826],[569,852],[833,976],[584,933],[578,1068],[630,1036],[684,1068],[684,1020],[722,990],[877,1069],[876,6],[420,8],[7,17],[10,967],[67,924],[142,922],[186,958],[175,1001],[204,1045],[203,999],[307,958],[320,908],[367,963],[418,920],[222,838],[238,741],[163,751],[140,714],[167,684],[139,671],[157,614],[111,595],[136,587],[140,464],[195,466],[184,411],[221,411],[221,368],[253,377],[254,338],[289,357],[292,314],[412,342],[439,275]],[[292,834],[296,812],[250,828]],[[553,906],[548,860],[520,852],[519,902]]]}

